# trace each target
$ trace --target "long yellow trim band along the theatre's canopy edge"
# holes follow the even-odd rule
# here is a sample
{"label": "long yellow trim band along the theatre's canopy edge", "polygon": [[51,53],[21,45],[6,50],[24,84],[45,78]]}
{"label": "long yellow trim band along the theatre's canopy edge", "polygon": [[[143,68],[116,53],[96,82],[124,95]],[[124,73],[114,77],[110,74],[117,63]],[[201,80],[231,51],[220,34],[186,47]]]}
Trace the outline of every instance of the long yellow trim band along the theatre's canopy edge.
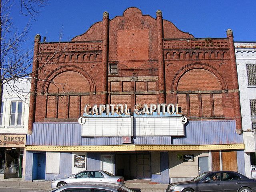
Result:
{"label": "long yellow trim band along the theatre's canopy edge", "polygon": [[27,151],[86,151],[86,152],[118,152],[118,151],[200,151],[244,149],[244,144],[225,145],[107,145],[107,146],[32,146],[26,145]]}

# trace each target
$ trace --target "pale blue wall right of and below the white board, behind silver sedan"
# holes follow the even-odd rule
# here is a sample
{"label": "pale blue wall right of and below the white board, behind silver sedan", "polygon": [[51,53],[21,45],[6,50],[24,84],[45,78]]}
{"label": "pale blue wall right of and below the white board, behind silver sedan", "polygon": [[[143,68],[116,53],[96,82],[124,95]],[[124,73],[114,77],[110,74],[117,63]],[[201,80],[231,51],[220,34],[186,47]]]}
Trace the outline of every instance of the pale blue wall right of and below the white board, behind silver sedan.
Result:
{"label": "pale blue wall right of and below the white board, behind silver sedan", "polygon": [[72,175],[72,153],[61,152],[60,153],[60,174],[46,173],[45,180],[52,181],[58,178],[69,177],[71,175]]}

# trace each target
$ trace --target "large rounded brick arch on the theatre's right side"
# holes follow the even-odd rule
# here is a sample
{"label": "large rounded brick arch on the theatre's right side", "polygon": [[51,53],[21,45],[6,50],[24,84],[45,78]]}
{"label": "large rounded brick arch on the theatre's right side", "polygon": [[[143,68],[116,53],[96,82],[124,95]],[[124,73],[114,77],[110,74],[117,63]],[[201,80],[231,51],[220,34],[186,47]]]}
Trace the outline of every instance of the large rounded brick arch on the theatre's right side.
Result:
{"label": "large rounded brick arch on the theatre's right side", "polygon": [[[178,83],[182,79],[182,76],[187,75],[188,74],[187,72],[194,70],[194,69],[201,69],[201,70],[198,70],[197,72],[203,72],[203,73],[204,73],[204,70],[207,70],[208,72],[210,72],[210,73],[208,73],[209,75],[212,74],[216,77],[215,81],[217,82],[217,80],[218,80],[218,82],[220,83],[220,89],[222,89],[222,90],[228,89],[226,81],[224,80],[224,78],[222,77],[220,72],[218,72],[218,70],[216,70],[216,68],[214,68],[208,64],[204,64],[204,63],[193,63],[193,64],[188,64],[188,65],[184,66],[175,74],[170,90],[177,91]],[[193,72],[195,72],[195,71],[193,71]],[[205,71],[204,74],[206,75],[207,72]],[[197,78],[200,78],[200,76],[198,76]]]}

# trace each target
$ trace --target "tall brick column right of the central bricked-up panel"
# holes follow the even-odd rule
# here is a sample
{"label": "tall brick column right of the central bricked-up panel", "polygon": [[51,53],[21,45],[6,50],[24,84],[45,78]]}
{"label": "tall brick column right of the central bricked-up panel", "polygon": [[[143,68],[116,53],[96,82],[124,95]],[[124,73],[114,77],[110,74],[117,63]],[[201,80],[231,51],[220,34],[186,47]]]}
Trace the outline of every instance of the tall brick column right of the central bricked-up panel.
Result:
{"label": "tall brick column right of the central bricked-up panel", "polygon": [[162,11],[156,12],[157,43],[158,43],[158,100],[166,103],[165,74],[164,74],[164,47],[163,47],[163,18]]}

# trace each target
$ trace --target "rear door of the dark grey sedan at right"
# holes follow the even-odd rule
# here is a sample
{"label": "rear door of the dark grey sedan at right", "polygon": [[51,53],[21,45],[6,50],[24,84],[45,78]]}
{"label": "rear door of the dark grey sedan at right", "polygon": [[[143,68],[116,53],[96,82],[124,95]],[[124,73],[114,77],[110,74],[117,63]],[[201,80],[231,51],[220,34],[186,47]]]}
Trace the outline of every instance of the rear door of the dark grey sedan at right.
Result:
{"label": "rear door of the dark grey sedan at right", "polygon": [[234,172],[223,172],[222,183],[225,192],[237,192],[243,184],[240,176]]}

